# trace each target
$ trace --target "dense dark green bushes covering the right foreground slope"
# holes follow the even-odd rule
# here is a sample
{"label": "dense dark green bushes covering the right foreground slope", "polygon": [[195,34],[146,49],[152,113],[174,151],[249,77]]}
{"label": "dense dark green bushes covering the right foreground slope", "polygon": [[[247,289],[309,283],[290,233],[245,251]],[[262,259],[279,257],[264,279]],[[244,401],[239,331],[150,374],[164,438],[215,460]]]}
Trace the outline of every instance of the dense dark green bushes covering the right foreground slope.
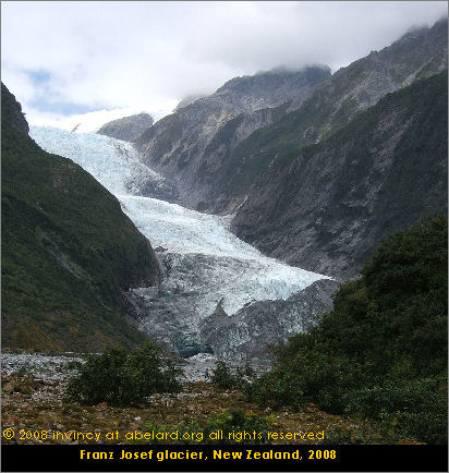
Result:
{"label": "dense dark green bushes covering the right foreground slope", "polygon": [[341,286],[333,311],[279,348],[251,399],[274,408],[315,402],[447,442],[447,231],[438,216],[383,242],[362,277]]}

